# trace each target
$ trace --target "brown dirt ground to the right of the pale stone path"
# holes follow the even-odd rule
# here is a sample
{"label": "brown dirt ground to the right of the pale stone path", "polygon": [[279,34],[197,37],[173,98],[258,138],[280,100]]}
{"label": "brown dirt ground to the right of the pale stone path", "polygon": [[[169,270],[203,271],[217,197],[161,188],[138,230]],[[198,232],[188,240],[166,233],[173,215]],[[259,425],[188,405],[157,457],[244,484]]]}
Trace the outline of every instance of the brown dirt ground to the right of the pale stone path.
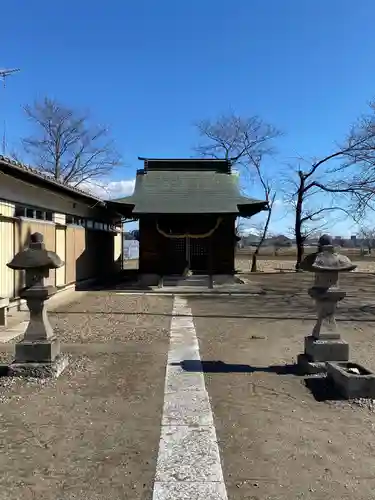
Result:
{"label": "brown dirt ground to the right of the pale stone path", "polygon": [[[314,324],[303,319],[304,307],[312,311],[311,299],[303,303],[306,278],[262,278],[256,279],[263,298],[189,299],[228,497],[375,498],[374,402],[328,399],[332,394],[319,381],[309,382],[310,390],[295,375],[303,337]],[[356,296],[350,307],[359,311],[362,299]],[[301,319],[287,319],[290,313]],[[375,370],[375,312],[348,321],[343,305],[340,315],[352,360]]]}

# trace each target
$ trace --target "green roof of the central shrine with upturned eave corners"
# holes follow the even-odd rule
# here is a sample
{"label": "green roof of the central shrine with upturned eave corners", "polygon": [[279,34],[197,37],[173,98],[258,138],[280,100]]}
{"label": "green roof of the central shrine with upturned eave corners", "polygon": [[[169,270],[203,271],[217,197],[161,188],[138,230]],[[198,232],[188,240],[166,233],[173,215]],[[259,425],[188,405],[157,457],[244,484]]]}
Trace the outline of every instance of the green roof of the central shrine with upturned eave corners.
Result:
{"label": "green roof of the central shrine with upturned eave corners", "polygon": [[237,214],[251,216],[267,202],[242,196],[236,175],[214,170],[145,170],[137,173],[132,196],[112,200],[124,213]]}

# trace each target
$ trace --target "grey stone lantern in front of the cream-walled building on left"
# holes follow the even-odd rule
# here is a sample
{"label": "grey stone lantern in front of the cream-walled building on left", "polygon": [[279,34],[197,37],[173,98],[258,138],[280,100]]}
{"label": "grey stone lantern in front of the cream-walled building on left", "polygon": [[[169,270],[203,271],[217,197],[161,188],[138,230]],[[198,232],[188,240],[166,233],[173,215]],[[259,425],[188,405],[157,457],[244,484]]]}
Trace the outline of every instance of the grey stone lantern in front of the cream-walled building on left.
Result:
{"label": "grey stone lantern in front of the cream-walled building on left", "polygon": [[26,300],[30,321],[23,340],[16,344],[15,360],[9,367],[11,375],[34,377],[58,376],[67,366],[67,357],[60,354],[60,342],[48,320],[45,301],[56,293],[56,288],[46,286],[51,269],[64,262],[55,253],[45,249],[43,235],[30,236],[29,247],[18,252],[7,264],[14,270],[24,270],[26,287],[20,297]]}

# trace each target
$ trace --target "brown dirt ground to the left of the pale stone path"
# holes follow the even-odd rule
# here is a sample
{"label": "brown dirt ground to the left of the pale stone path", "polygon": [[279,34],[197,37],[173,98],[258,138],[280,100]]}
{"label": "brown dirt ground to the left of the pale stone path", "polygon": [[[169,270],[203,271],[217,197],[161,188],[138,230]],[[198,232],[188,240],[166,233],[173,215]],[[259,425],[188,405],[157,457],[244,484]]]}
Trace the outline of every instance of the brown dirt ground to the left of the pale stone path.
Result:
{"label": "brown dirt ground to the left of the pale stone path", "polygon": [[89,293],[51,314],[71,364],[0,379],[0,500],[152,498],[171,308]]}

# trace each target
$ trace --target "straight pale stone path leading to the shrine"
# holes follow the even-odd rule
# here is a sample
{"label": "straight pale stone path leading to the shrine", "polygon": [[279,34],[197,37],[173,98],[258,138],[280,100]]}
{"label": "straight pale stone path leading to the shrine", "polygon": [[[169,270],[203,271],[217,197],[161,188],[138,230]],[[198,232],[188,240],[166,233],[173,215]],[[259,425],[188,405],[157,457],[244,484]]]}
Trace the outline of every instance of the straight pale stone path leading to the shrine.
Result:
{"label": "straight pale stone path leading to the shrine", "polygon": [[191,309],[176,296],[153,500],[227,500],[204,375],[184,371],[183,360],[201,366]]}

